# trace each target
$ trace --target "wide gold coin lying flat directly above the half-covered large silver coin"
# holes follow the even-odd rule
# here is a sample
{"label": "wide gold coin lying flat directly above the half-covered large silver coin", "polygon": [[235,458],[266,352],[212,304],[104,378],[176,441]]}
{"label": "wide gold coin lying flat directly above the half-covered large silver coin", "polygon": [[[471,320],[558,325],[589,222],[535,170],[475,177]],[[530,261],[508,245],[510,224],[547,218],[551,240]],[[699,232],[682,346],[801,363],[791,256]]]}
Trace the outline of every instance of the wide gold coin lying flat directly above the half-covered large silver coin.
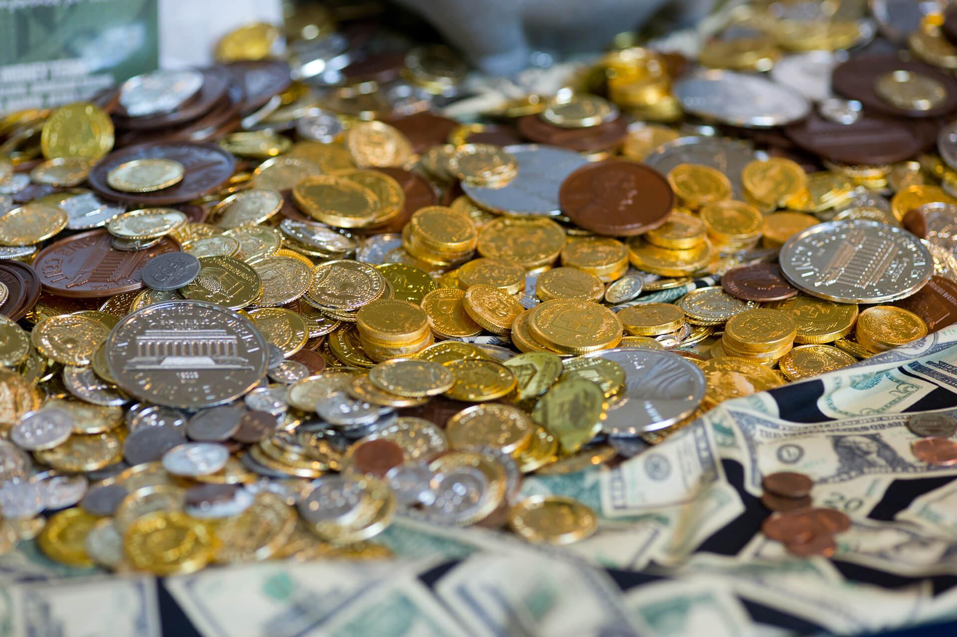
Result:
{"label": "wide gold coin lying flat directly above the half-covered large silver coin", "polygon": [[611,310],[597,303],[551,300],[532,310],[528,329],[543,345],[566,354],[585,354],[614,347],[624,328]]}

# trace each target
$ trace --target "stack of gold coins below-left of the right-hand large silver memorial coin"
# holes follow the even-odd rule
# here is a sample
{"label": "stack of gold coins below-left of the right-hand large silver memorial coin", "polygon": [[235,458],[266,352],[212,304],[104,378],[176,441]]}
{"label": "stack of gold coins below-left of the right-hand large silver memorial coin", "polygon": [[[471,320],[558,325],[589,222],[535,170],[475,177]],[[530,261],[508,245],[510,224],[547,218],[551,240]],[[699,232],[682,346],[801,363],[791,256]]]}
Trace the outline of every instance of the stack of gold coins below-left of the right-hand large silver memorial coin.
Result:
{"label": "stack of gold coins below-left of the right-hand large silver memorial coin", "polygon": [[771,366],[794,346],[797,325],[789,312],[758,308],[728,319],[712,357],[735,356]]}

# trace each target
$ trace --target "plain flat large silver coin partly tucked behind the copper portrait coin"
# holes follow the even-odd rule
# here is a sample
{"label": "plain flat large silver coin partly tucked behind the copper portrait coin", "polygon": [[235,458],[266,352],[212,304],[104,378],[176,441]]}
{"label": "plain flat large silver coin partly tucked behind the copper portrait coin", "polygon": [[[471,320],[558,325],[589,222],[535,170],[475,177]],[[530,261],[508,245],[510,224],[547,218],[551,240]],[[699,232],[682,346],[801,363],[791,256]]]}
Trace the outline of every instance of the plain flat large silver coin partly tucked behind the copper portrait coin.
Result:
{"label": "plain flat large silver coin partly tucked behind the copper portrait coin", "polygon": [[562,182],[588,160],[576,152],[534,143],[505,146],[515,155],[519,171],[502,187],[469,186],[462,189],[482,208],[502,214],[554,217],[561,214],[558,191]]}

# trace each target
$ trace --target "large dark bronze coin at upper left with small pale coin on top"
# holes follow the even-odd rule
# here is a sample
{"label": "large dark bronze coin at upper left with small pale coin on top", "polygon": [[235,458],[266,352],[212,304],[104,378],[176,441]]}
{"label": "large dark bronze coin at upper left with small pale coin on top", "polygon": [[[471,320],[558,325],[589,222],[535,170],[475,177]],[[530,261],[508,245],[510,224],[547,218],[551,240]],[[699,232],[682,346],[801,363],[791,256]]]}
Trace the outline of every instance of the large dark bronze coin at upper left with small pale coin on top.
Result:
{"label": "large dark bronze coin at upper left with small pale coin on top", "polygon": [[[168,159],[183,165],[183,180],[175,186],[154,192],[121,192],[106,184],[106,175],[118,165],[138,159]],[[90,187],[107,199],[115,199],[144,208],[185,204],[209,194],[233,176],[232,153],[214,143],[142,143],[116,150],[100,160],[90,171]]]}

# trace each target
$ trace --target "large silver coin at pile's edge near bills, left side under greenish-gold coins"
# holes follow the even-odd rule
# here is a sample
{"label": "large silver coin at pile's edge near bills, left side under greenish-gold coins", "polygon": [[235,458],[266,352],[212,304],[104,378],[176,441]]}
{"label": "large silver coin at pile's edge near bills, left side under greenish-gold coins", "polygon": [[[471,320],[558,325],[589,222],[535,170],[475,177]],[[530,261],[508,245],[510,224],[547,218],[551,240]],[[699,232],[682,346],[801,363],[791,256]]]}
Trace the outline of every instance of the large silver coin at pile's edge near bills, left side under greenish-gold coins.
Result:
{"label": "large silver coin at pile's edge near bills, left side under greenish-gold coins", "polygon": [[605,433],[634,435],[670,427],[690,416],[704,398],[704,374],[678,354],[618,347],[585,356],[617,362],[625,370],[625,387],[602,421]]}

